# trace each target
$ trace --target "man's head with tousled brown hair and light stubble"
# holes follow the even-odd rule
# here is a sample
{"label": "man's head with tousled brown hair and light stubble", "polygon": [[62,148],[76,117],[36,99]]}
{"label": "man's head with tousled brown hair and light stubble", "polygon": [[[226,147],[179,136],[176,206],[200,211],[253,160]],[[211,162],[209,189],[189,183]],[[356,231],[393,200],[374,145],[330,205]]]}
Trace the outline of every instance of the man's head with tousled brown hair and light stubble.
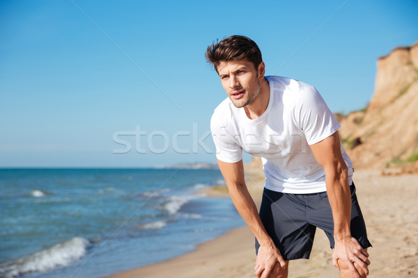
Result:
{"label": "man's head with tousled brown hair and light stubble", "polygon": [[254,41],[233,35],[210,45],[206,59],[215,67],[234,106],[241,108],[256,103],[265,83],[265,65]]}

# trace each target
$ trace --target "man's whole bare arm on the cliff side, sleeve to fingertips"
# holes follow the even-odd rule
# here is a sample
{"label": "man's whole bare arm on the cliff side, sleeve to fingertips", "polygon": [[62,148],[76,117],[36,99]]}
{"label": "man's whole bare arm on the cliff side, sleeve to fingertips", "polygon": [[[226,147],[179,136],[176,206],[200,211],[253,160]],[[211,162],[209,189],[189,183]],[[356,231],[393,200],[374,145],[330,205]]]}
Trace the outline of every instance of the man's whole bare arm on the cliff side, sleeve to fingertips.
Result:
{"label": "man's whole bare arm on the cliff side, sleeve to fingertips", "polygon": [[[338,259],[342,260],[351,272],[359,275],[356,263],[366,275],[369,274],[367,265],[370,264],[369,254],[357,240],[351,236],[351,194],[348,184],[347,165],[341,154],[341,142],[338,131],[324,140],[310,145],[316,161],[325,169],[325,183],[327,195],[334,218],[334,251],[332,263],[339,268]],[[357,276],[356,275],[356,276]]]}

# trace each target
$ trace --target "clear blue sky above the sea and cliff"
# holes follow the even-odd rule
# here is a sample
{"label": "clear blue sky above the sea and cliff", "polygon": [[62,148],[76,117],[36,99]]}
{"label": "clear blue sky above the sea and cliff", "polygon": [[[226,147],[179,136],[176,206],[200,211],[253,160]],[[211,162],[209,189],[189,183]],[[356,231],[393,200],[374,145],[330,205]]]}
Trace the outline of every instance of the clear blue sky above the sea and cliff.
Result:
{"label": "clear blue sky above the sea and cliff", "polygon": [[226,94],[203,54],[233,34],[268,75],[364,108],[378,57],[417,42],[417,14],[415,0],[1,1],[0,167],[214,163],[203,138]]}

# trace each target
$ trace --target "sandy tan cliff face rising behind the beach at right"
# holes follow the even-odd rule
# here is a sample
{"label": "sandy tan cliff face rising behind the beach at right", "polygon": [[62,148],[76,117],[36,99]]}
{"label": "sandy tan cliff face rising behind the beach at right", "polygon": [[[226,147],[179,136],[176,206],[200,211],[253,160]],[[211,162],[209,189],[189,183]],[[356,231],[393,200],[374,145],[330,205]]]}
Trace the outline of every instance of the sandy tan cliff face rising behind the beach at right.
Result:
{"label": "sandy tan cliff face rising behind the beach at right", "polygon": [[379,58],[369,106],[340,123],[355,167],[418,170],[418,43]]}

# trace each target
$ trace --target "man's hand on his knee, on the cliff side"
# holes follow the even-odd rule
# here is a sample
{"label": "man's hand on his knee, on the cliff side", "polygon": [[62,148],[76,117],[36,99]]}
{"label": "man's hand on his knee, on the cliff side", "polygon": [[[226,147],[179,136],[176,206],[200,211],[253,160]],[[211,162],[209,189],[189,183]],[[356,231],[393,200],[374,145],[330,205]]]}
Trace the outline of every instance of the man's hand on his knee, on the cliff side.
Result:
{"label": "man's hand on his knee, on the cliff side", "polygon": [[355,268],[355,264],[359,266],[364,274],[369,275],[370,261],[368,259],[369,253],[364,250],[355,238],[351,236],[335,240],[334,252],[332,253],[332,264],[340,270],[338,260],[342,260],[348,266],[350,272],[353,272],[355,277],[362,277],[359,270]]}

